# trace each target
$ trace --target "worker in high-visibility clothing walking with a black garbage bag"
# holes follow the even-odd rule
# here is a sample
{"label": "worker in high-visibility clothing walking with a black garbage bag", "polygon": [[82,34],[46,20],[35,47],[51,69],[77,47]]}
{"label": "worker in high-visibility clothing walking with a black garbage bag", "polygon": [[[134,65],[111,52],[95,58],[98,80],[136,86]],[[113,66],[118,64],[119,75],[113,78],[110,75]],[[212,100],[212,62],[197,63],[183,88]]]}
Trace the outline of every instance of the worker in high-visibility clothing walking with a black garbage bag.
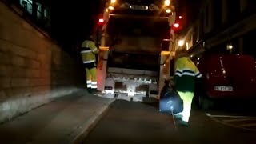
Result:
{"label": "worker in high-visibility clothing walking with a black garbage bag", "polygon": [[174,86],[179,96],[183,100],[183,111],[175,114],[175,118],[181,118],[178,121],[182,126],[188,126],[191,104],[194,98],[194,87],[196,78],[201,78],[202,74],[198,67],[190,60],[185,47],[176,51],[174,62]]}

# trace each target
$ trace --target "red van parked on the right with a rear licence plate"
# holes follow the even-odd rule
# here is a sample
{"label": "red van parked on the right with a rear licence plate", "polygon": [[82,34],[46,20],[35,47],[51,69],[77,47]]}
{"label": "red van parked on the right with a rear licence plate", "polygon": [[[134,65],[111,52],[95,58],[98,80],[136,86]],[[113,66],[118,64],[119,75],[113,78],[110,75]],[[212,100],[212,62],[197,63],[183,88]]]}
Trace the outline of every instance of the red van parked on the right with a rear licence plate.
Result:
{"label": "red van parked on the right with a rear licence plate", "polygon": [[204,75],[203,82],[196,86],[195,92],[198,104],[203,109],[213,106],[217,99],[256,98],[256,65],[253,57],[205,54],[195,63]]}

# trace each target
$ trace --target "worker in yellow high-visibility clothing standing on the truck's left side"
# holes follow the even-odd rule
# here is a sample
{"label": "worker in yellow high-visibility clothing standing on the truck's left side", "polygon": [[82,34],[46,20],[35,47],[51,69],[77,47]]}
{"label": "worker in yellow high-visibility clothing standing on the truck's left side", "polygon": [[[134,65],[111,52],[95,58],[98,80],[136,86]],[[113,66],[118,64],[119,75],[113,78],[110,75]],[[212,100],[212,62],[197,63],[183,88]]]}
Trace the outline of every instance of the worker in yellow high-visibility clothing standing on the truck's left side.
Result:
{"label": "worker in yellow high-visibility clothing standing on the truck's left side", "polygon": [[99,92],[97,90],[97,66],[95,56],[98,52],[99,50],[93,42],[92,35],[82,42],[80,54],[82,56],[82,62],[86,68],[86,84],[90,93]]}

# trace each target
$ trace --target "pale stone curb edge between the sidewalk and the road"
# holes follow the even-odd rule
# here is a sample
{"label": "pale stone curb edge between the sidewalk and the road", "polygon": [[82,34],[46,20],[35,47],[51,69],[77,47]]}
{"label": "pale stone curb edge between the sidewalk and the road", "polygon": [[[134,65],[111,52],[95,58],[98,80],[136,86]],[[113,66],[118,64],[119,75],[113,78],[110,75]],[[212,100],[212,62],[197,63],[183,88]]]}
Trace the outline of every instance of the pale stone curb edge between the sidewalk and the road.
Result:
{"label": "pale stone curb edge between the sidewalk and the road", "polygon": [[[97,123],[106,115],[107,111],[110,110],[110,106],[114,103],[110,102],[107,106],[104,106],[102,110],[99,112],[98,116],[96,118],[93,118],[89,124],[89,126],[85,126],[84,129],[80,130],[78,134],[70,140],[70,144],[81,144],[82,141],[86,138],[88,134],[90,134],[90,131],[94,129],[94,127],[97,125]],[[83,126],[80,126],[83,127]]]}

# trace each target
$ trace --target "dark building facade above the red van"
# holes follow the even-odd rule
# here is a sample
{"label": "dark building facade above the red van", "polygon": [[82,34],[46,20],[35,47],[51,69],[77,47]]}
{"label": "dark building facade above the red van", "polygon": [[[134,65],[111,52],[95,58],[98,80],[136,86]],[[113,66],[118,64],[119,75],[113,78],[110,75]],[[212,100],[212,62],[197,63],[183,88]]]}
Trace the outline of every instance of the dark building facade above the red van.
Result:
{"label": "dark building facade above the red van", "polygon": [[192,56],[210,50],[256,57],[256,52],[252,53],[255,51],[256,1],[205,0],[199,7],[194,21],[187,22],[187,29],[175,40],[176,49],[184,44]]}

